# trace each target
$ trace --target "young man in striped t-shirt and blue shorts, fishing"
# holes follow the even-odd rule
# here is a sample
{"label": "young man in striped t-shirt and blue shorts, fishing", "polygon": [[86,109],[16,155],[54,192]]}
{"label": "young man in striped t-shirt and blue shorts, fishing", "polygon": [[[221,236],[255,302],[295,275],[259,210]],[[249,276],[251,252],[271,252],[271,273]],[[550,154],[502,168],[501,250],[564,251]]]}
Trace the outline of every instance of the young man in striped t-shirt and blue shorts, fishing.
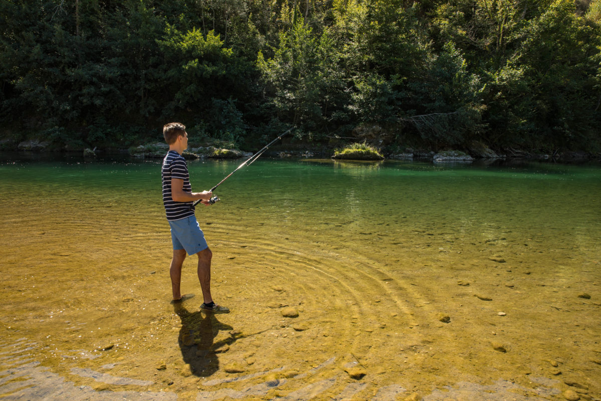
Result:
{"label": "young man in striped t-shirt and blue shorts, fishing", "polygon": [[188,133],[182,123],[169,123],[163,126],[163,136],[169,145],[169,152],[163,159],[161,171],[163,182],[163,205],[171,227],[173,243],[173,259],[169,268],[173,302],[181,302],[191,296],[182,296],[180,283],[182,280],[182,265],[188,255],[198,256],[198,281],[203,291],[203,310],[215,313],[228,313],[228,308],[222,307],[211,296],[211,257],[213,256],[200,225],[194,215],[192,203],[200,200],[209,206],[212,192],[192,192],[188,174],[188,165],[182,157],[188,148]]}

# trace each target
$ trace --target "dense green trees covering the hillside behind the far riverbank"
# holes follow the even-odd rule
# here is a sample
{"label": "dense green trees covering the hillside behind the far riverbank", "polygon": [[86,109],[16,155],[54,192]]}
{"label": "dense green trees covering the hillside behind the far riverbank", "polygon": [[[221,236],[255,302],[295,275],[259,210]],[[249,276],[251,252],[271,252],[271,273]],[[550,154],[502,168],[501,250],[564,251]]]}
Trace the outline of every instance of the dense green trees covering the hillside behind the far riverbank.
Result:
{"label": "dense green trees covering the hillside behind the far riverbank", "polygon": [[0,135],[599,152],[600,23],[601,0],[1,0]]}

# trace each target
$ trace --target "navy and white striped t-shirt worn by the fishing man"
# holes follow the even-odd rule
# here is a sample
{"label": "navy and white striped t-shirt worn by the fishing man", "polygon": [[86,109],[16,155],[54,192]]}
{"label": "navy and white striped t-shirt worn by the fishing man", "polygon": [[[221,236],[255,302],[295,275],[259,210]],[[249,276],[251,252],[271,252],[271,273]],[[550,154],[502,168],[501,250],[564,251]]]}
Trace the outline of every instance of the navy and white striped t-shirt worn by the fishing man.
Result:
{"label": "navy and white striped t-shirt worn by the fishing man", "polygon": [[179,220],[188,216],[193,216],[194,207],[192,207],[192,202],[176,202],[171,198],[172,178],[184,180],[184,192],[192,192],[186,159],[175,152],[175,150],[169,150],[165,159],[163,159],[161,177],[163,180],[163,205],[165,206],[167,219]]}

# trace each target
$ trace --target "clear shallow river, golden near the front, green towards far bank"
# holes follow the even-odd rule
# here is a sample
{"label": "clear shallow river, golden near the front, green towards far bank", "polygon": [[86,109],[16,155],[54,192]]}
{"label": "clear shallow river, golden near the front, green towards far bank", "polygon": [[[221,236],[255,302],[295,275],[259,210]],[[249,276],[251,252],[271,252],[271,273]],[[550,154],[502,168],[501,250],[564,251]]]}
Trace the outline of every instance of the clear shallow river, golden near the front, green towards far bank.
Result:
{"label": "clear shallow river, golden near the front, green towards far bank", "polygon": [[160,161],[0,189],[4,400],[601,399],[598,165],[260,159],[197,207],[219,315],[195,256],[169,302]]}

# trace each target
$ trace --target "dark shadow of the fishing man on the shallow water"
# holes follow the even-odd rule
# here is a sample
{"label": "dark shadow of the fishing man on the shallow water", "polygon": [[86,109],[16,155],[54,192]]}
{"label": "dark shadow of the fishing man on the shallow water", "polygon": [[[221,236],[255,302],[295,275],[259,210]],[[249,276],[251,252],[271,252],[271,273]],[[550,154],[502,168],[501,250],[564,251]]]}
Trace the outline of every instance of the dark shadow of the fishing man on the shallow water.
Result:
{"label": "dark shadow of the fishing man on the shallow water", "polygon": [[[183,360],[190,364],[193,375],[213,375],[219,369],[217,354],[243,336],[230,325],[219,322],[214,313],[190,312],[182,303],[174,304],[173,310],[182,319],[177,341]],[[215,342],[220,331],[229,331],[230,336]]]}

